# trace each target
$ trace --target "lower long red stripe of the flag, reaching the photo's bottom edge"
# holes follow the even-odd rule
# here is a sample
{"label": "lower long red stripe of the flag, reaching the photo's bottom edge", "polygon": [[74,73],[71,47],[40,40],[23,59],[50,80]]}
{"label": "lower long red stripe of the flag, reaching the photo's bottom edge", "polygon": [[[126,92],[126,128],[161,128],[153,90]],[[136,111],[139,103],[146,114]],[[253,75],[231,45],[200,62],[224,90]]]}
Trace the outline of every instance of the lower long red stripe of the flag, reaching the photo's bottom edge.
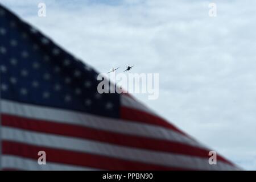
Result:
{"label": "lower long red stripe of the flag, reaching the photo's bottom edge", "polygon": [[[184,170],[181,168],[172,168],[158,166],[155,164],[147,164],[141,162],[133,162],[108,156],[88,154],[84,152],[75,152],[68,150],[59,150],[48,147],[33,146],[30,144],[2,141],[3,155],[16,155],[24,158],[38,160],[38,152],[46,152],[46,160],[48,162],[72,164],[75,166],[86,166],[106,170]],[[46,162],[47,162],[46,161]]]}

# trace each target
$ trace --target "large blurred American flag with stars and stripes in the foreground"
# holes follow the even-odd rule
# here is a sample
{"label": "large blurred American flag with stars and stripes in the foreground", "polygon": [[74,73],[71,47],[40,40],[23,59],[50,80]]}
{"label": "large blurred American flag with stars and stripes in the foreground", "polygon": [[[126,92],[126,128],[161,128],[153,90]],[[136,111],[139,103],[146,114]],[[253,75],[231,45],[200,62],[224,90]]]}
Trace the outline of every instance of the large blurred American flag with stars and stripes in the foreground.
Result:
{"label": "large blurred American flag with stars and stripes in the foreground", "polygon": [[93,68],[3,6],[0,60],[1,169],[239,169],[129,94],[99,94]]}

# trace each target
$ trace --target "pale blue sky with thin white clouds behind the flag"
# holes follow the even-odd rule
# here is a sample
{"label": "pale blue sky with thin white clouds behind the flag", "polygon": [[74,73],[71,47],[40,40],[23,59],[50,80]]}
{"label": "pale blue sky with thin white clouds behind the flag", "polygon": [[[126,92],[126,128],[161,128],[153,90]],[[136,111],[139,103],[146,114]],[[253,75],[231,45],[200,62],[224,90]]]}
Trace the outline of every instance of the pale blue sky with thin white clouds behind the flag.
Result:
{"label": "pale blue sky with thin white clouds behind the flag", "polygon": [[[38,17],[38,3],[46,17]],[[217,16],[208,14],[209,3]],[[136,97],[244,169],[256,169],[256,2],[0,0],[99,72],[159,73]],[[121,69],[120,68],[120,69]]]}

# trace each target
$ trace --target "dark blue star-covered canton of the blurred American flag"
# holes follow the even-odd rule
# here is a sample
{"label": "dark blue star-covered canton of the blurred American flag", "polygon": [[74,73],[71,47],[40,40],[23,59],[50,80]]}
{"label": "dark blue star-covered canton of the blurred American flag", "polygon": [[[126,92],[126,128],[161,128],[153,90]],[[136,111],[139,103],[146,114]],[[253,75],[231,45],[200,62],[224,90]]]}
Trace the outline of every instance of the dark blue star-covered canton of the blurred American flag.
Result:
{"label": "dark blue star-covered canton of the blurred American flag", "polygon": [[97,92],[94,69],[13,14],[0,16],[0,60],[2,98],[119,116],[118,94]]}

